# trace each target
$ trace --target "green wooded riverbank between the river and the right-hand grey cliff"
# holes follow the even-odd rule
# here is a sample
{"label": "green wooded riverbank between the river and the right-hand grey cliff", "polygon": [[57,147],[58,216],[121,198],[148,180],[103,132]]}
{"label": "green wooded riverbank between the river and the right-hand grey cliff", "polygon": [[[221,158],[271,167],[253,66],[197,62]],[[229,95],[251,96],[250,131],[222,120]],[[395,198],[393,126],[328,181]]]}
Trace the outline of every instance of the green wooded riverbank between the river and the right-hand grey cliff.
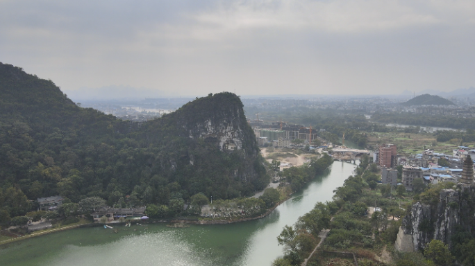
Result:
{"label": "green wooded riverbank between the river and the right-hand grey cliff", "polygon": [[406,192],[403,186],[392,190],[389,184],[376,185],[377,179],[381,179],[378,168],[363,157],[354,175],[333,190],[331,202],[318,202],[295,224],[283,228],[277,240],[285,255],[272,266],[451,265],[447,263],[451,258],[433,256],[437,252],[449,254],[447,245],[438,240],[433,240],[424,253],[397,251],[394,242],[412,204],[422,199],[437,201],[438,191],[453,184]]}

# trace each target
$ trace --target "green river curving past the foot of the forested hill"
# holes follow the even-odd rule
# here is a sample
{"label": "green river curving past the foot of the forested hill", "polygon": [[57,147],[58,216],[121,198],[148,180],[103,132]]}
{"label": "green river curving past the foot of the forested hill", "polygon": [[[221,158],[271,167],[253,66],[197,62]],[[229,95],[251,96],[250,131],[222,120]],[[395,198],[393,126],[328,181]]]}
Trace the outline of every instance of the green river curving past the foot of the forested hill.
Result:
{"label": "green river curving past the foot of the forested hill", "polygon": [[283,255],[277,245],[282,228],[292,225],[317,202],[332,199],[356,165],[335,161],[301,192],[260,220],[237,224],[133,224],[72,229],[0,246],[0,265],[271,265]]}

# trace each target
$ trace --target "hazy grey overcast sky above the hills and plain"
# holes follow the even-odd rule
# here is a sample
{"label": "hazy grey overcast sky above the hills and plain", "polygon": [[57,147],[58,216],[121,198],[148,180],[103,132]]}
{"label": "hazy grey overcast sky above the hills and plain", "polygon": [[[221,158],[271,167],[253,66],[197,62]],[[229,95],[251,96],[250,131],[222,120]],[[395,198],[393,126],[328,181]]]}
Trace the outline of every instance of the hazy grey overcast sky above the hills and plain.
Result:
{"label": "hazy grey overcast sky above the hills and plain", "polygon": [[475,86],[475,1],[0,0],[0,62],[66,92],[451,91]]}

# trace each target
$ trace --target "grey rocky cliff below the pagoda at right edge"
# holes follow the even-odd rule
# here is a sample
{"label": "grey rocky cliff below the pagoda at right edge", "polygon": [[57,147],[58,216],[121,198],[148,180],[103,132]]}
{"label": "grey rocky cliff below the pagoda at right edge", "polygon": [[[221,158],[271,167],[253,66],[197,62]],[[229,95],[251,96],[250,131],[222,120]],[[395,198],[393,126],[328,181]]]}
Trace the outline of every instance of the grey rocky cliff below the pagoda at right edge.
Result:
{"label": "grey rocky cliff below the pagoda at right edge", "polygon": [[[416,202],[410,213],[403,218],[396,247],[399,250],[424,249],[433,239],[451,245],[456,229],[472,231],[474,224],[475,184],[458,185],[454,189],[442,189],[430,202]],[[404,242],[412,247],[403,247]]]}

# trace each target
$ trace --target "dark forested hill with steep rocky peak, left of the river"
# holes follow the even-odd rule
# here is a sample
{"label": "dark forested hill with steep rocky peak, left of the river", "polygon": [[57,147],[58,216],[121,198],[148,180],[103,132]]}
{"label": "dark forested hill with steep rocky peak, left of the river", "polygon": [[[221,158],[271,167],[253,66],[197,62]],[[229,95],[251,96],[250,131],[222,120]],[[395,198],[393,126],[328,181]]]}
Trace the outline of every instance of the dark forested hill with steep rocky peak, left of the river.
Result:
{"label": "dark forested hill with steep rocky peak, left of the river", "polygon": [[27,198],[58,194],[72,202],[99,196],[111,206],[249,195],[268,182],[260,160],[235,94],[133,123],[78,107],[51,80],[0,63],[3,216],[23,215]]}

